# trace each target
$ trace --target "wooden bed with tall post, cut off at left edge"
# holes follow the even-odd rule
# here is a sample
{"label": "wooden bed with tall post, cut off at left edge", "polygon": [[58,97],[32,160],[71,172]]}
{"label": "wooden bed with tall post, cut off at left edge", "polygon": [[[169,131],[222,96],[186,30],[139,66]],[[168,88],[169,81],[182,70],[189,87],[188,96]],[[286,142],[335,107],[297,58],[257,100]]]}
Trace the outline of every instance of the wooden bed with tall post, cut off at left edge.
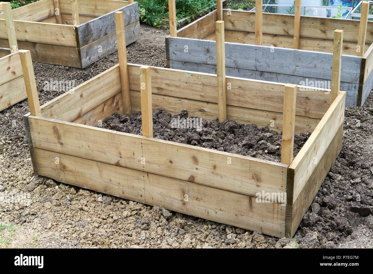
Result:
{"label": "wooden bed with tall post, cut off at left edge", "polygon": [[[27,98],[22,62],[26,50],[18,50],[10,3],[2,3],[6,15],[9,50],[0,50],[0,111]],[[29,54],[29,53],[28,53]],[[32,67],[32,63],[31,63]]]}

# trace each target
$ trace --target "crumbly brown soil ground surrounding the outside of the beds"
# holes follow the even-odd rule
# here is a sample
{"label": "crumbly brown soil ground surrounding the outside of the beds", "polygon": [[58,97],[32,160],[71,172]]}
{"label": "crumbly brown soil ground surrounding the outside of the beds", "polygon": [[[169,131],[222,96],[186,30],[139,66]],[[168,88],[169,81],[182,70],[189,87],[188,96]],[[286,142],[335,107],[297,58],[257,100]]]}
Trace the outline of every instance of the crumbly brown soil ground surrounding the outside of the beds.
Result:
{"label": "crumbly brown soil ground surrounding the outside of the beds", "polygon": [[[129,62],[164,67],[166,36],[142,25]],[[113,53],[86,69],[34,63],[41,103],[63,93],[44,91],[44,81],[80,84],[117,62]],[[0,222],[37,231],[36,247],[291,248],[287,238],[34,176],[22,117],[28,111],[25,100],[0,112]],[[346,108],[342,151],[296,232],[300,248],[373,247],[372,132],[370,94],[364,107]]]}

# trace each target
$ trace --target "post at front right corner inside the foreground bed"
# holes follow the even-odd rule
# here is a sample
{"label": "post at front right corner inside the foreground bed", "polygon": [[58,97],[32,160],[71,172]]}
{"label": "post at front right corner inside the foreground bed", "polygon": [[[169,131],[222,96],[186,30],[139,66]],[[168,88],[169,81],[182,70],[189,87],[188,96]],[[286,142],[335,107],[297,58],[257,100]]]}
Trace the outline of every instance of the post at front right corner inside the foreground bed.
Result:
{"label": "post at front right corner inside the foreground bed", "polygon": [[294,156],[297,85],[287,84],[283,97],[281,163],[291,164]]}

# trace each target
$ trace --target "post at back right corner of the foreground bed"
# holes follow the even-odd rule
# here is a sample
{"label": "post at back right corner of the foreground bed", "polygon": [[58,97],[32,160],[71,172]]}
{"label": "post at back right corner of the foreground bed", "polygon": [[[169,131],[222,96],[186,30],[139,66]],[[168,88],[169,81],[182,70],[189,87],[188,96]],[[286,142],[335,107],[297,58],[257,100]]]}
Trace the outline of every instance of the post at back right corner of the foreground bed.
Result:
{"label": "post at back right corner of the foreground bed", "polygon": [[343,31],[336,29],[334,31],[333,44],[333,65],[332,65],[332,84],[330,91],[330,104],[332,104],[339,94],[341,85],[341,61],[343,47]]}

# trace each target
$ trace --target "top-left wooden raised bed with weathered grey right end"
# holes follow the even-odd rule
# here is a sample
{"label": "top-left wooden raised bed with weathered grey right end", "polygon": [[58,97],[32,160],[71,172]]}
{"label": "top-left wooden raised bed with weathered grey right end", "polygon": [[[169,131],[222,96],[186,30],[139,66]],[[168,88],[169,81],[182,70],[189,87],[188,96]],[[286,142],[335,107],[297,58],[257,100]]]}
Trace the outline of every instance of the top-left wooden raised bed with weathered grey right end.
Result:
{"label": "top-left wooden raised bed with weathered grey right end", "polygon": [[[125,13],[127,44],[140,38],[138,3],[119,0],[41,0],[14,9],[19,48],[34,62],[84,68],[117,50],[114,12]],[[0,47],[7,45],[3,14]]]}

